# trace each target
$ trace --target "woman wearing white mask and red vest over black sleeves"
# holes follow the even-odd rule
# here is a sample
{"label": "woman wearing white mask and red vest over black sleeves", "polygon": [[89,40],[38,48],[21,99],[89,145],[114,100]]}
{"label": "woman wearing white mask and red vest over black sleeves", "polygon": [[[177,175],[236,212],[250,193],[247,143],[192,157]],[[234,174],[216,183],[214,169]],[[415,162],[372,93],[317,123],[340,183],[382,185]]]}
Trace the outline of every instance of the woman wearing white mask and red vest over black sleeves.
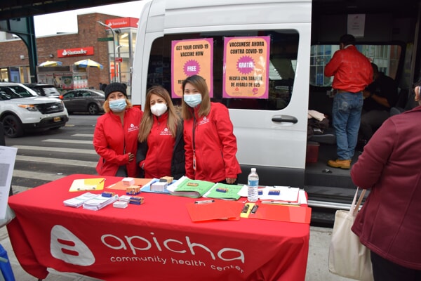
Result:
{"label": "woman wearing white mask and red vest over black sleeves", "polygon": [[145,111],[139,130],[136,162],[141,178],[185,175],[182,119],[170,94],[162,86],[147,91]]}

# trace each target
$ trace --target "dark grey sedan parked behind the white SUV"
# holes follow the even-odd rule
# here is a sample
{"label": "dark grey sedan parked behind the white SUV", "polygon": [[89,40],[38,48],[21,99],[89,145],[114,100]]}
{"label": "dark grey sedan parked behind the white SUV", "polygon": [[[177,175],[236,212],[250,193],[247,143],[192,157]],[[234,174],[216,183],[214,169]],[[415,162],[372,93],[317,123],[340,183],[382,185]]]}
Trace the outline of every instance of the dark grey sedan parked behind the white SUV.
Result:
{"label": "dark grey sedan parked behind the white SUV", "polygon": [[105,102],[103,91],[79,89],[68,91],[63,95],[63,103],[67,112],[88,112],[90,115],[96,115],[104,112],[102,105]]}

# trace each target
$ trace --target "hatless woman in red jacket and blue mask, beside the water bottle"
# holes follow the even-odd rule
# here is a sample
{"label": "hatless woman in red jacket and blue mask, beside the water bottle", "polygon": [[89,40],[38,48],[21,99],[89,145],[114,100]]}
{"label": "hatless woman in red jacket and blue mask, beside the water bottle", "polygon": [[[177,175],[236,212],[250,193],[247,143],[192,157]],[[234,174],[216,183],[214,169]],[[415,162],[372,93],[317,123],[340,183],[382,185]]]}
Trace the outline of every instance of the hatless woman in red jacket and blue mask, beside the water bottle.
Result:
{"label": "hatless woman in red jacket and blue mask, beside the water bottle", "polygon": [[241,168],[227,107],[210,102],[206,81],[199,75],[187,77],[182,92],[186,176],[235,184]]}

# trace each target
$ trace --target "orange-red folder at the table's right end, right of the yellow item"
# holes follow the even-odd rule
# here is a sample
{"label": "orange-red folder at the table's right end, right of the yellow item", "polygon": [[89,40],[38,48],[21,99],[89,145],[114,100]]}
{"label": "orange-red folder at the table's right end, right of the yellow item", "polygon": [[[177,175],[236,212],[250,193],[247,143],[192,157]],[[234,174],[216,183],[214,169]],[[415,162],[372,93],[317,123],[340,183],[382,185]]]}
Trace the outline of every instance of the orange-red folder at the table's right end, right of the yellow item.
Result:
{"label": "orange-red folder at the table's right end, right of the yellow item", "polygon": [[286,221],[290,223],[310,223],[312,208],[285,205],[259,204],[255,214],[248,218],[260,218],[269,221]]}

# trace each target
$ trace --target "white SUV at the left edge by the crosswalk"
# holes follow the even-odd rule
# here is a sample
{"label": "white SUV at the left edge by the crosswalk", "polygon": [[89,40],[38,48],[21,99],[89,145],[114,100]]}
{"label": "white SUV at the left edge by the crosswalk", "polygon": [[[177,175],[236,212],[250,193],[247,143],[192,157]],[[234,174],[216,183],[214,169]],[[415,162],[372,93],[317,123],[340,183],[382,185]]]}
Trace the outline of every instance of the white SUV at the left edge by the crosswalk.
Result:
{"label": "white SUV at the left edge by the crosswalk", "polygon": [[0,122],[9,138],[25,131],[58,129],[69,121],[62,100],[38,96],[19,83],[0,83]]}

